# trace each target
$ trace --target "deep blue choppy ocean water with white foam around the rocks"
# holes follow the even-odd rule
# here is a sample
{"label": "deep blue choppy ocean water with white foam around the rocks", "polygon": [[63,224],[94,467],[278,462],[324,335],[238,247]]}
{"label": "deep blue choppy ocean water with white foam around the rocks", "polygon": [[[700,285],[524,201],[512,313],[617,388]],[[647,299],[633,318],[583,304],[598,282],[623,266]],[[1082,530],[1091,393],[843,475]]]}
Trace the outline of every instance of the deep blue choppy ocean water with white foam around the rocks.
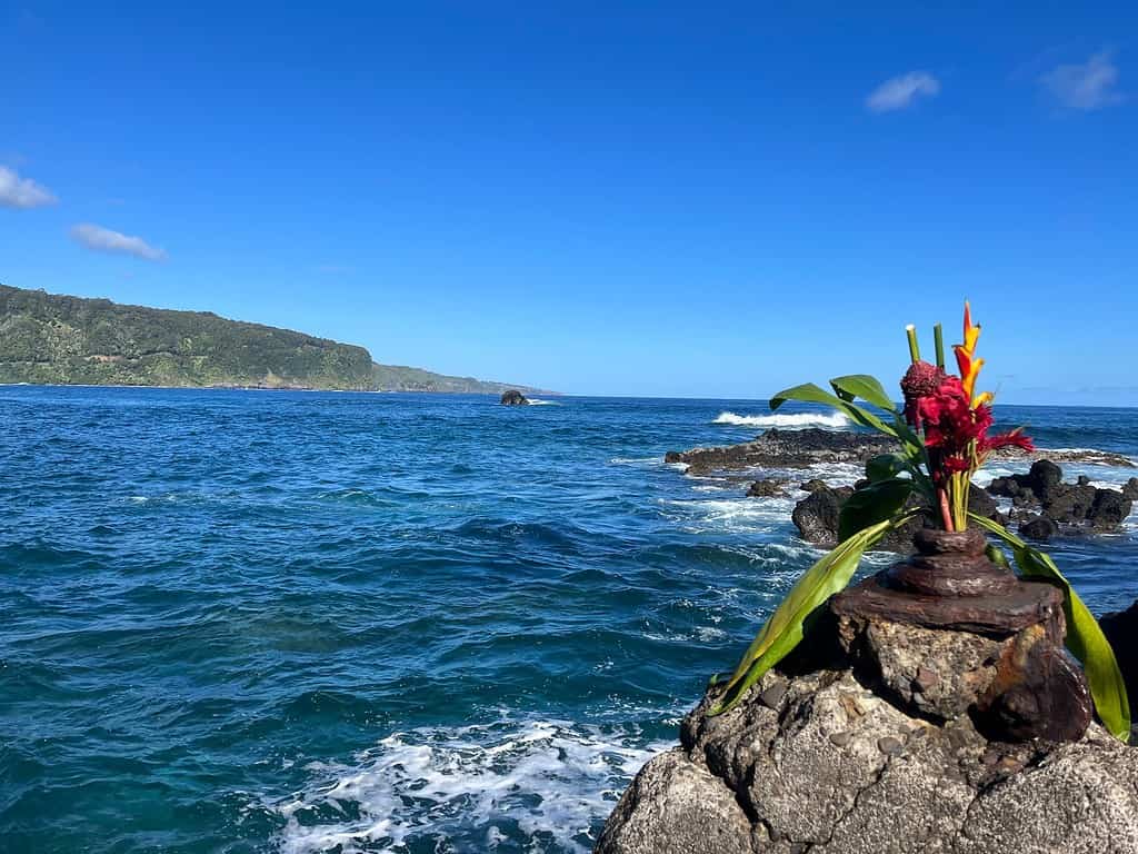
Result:
{"label": "deep blue choppy ocean water with white foam around the rocks", "polygon": [[[1135,410],[998,414],[1138,457]],[[662,462],[775,422],[0,388],[0,851],[588,849],[819,555],[791,499]],[[1052,549],[1096,611],[1138,597],[1136,527]]]}

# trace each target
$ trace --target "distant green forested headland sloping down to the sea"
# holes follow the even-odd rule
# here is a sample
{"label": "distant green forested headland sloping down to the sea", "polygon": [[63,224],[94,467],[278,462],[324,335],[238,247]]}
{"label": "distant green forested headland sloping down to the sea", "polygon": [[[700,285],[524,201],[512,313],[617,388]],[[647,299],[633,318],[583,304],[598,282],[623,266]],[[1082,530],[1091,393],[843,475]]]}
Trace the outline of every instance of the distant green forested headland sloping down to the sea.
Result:
{"label": "distant green forested headland sloping down to the sea", "polygon": [[[0,383],[501,394],[541,389],[379,364],[364,347],[212,312],[0,285]],[[549,392],[546,392],[549,394]]]}

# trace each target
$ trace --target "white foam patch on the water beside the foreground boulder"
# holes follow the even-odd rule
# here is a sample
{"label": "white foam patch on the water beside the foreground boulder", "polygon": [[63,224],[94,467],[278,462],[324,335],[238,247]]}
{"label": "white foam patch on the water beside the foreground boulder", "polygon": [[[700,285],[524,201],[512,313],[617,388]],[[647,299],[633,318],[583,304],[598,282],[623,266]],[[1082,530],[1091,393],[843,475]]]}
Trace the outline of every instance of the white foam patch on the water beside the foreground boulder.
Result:
{"label": "white foam patch on the water beside the foreground boulder", "polygon": [[632,725],[566,721],[398,732],[351,766],[310,764],[313,783],[271,807],[286,820],[280,848],[588,852],[620,790],[669,747],[642,742]]}

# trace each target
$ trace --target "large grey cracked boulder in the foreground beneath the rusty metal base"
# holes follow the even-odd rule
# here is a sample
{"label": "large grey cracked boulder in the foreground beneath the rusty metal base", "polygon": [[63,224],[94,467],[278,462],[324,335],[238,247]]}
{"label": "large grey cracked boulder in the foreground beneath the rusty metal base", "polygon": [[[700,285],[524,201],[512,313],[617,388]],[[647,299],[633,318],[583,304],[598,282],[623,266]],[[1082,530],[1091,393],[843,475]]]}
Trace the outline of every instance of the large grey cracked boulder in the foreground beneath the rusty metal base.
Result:
{"label": "large grey cracked boulder in the foreground beneath the rusty metal base", "polygon": [[[605,824],[600,854],[1132,854],[1138,750],[999,744],[909,714],[848,668],[770,672],[684,721]],[[777,697],[774,707],[760,698]]]}

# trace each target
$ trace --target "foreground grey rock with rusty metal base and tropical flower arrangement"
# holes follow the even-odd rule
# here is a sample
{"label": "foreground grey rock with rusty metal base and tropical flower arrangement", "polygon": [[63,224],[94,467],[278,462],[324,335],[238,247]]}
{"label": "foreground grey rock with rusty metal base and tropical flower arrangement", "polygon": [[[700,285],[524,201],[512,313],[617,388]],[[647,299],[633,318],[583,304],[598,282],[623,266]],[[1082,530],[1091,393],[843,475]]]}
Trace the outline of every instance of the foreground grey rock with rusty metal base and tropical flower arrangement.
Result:
{"label": "foreground grey rock with rusty metal base and tropical flower arrangement", "polygon": [[[1138,851],[1138,750],[1110,642],[1047,555],[970,510],[984,460],[1032,446],[991,432],[979,336],[966,304],[951,376],[940,327],[937,366],[909,327],[904,411],[864,375],[772,399],[827,403],[896,450],[828,509],[835,548],[712,680],[681,746],[644,766],[597,852]],[[916,555],[843,590],[866,550],[918,520]]]}

